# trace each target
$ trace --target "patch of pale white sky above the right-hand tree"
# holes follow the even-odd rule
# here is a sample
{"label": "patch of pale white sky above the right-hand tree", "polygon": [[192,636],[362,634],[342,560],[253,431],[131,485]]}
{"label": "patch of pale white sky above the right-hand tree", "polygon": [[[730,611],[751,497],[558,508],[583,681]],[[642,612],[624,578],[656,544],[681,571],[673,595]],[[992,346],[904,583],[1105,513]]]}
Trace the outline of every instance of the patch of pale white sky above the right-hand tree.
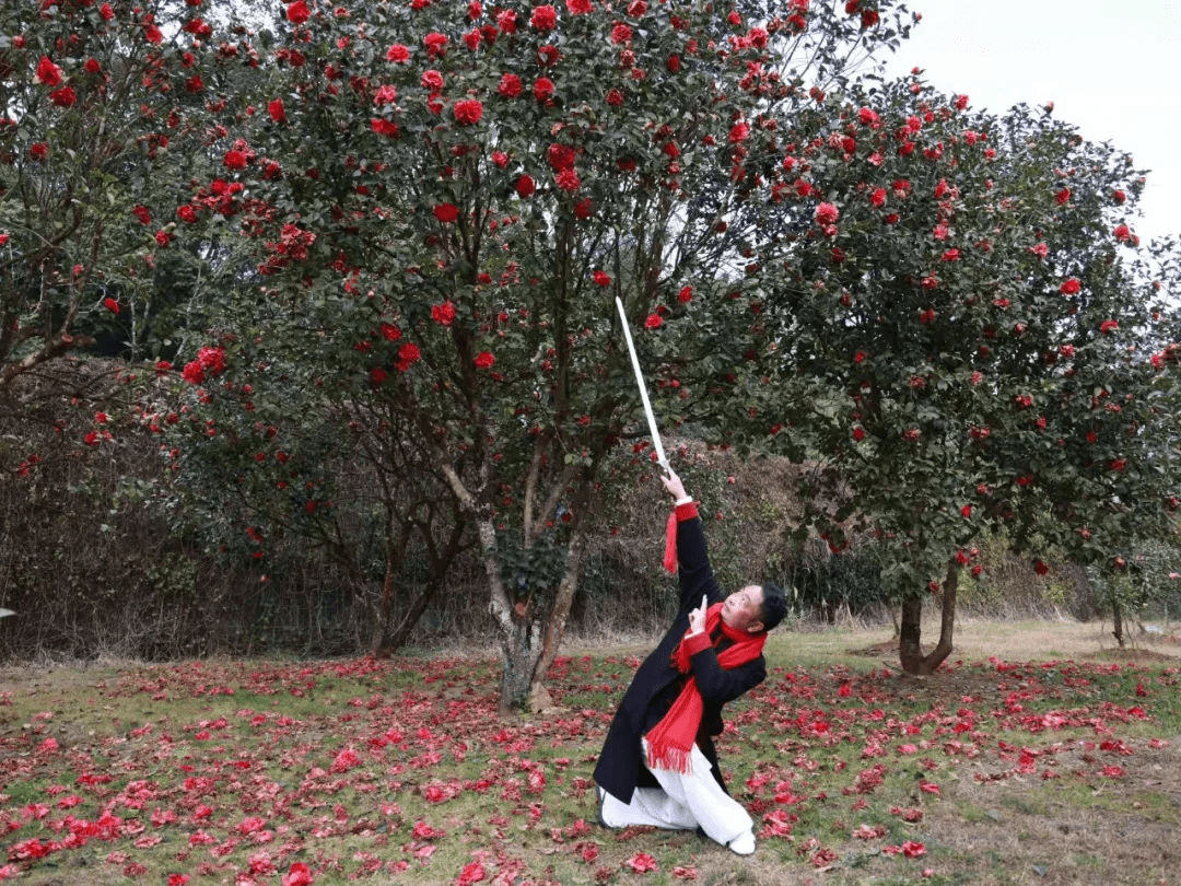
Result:
{"label": "patch of pale white sky above the right-hand tree", "polygon": [[1053,102],[1053,116],[1110,141],[1151,170],[1143,241],[1181,236],[1181,2],[1177,0],[908,0],[922,21],[887,73],[912,67],[971,108],[1000,113]]}

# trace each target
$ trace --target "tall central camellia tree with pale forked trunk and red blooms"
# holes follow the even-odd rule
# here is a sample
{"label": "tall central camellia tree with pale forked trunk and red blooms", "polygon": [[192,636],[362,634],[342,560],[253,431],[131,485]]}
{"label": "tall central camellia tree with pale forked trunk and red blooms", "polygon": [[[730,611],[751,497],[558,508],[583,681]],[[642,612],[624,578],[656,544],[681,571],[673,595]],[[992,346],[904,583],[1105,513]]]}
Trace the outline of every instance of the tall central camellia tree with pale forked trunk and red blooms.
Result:
{"label": "tall central camellia tree with pale forked trunk and red blooms", "polygon": [[661,327],[742,248],[746,143],[896,43],[890,6],[287,5],[260,113],[209,171],[260,209],[231,221],[261,291],[227,378],[283,361],[397,412],[478,538],[504,708],[541,685],[599,474],[639,437],[614,298],[665,360]]}

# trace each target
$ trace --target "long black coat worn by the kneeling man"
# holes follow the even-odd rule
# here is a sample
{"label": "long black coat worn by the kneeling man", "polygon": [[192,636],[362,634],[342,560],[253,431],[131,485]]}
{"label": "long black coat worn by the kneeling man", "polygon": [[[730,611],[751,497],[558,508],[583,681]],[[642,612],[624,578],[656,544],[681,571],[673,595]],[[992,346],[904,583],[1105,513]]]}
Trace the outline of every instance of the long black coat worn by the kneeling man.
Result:
{"label": "long black coat worn by the kneeling man", "polygon": [[[625,803],[632,802],[632,793],[637,787],[658,787],[655,777],[642,764],[640,740],[660,722],[684,685],[684,675],[672,664],[672,652],[689,630],[689,613],[700,606],[703,594],[709,598],[711,606],[723,599],[722,591],[713,580],[705,535],[698,517],[678,523],[677,559],[680,562],[680,608],[677,618],[660,645],[632,678],[632,685],[615,711],[594,770],[594,780],[599,786]],[[762,683],[766,678],[766,663],[759,656],[726,671],[718,665],[717,650],[709,646],[693,656],[692,672],[704,703],[697,745],[710,761],[713,777],[725,789],[712,741],[713,736],[722,732],[722,705]]]}

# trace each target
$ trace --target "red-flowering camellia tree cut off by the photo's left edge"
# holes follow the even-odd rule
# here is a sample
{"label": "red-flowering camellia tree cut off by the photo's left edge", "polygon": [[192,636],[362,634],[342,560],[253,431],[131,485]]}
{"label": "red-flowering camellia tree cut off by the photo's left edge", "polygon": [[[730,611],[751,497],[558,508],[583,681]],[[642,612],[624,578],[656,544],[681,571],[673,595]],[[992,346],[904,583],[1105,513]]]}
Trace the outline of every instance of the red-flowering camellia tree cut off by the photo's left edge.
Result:
{"label": "red-flowering camellia tree cut off by the photo's left edge", "polygon": [[[184,202],[177,195],[188,194],[189,170],[211,135],[218,87],[249,60],[241,37],[216,41],[198,6],[63,0],[0,9],[7,417],[52,426],[63,396],[106,390],[103,373],[80,386],[65,373],[54,389],[54,366],[116,326],[135,338],[159,295],[157,256],[177,226],[196,220],[177,213]],[[183,8],[189,14],[177,28]],[[41,382],[37,396],[20,390],[31,376]],[[96,434],[85,443],[103,439]],[[6,461],[0,454],[0,465],[11,468]]]}

